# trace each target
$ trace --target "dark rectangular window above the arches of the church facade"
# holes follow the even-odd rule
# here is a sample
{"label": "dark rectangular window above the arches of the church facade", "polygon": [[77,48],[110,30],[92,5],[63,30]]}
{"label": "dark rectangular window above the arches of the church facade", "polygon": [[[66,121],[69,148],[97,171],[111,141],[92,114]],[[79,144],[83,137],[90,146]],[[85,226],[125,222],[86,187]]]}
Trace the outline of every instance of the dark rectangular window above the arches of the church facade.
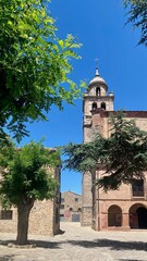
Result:
{"label": "dark rectangular window above the arches of the church facade", "polygon": [[133,181],[132,195],[133,195],[133,197],[144,197],[144,181],[143,179]]}

